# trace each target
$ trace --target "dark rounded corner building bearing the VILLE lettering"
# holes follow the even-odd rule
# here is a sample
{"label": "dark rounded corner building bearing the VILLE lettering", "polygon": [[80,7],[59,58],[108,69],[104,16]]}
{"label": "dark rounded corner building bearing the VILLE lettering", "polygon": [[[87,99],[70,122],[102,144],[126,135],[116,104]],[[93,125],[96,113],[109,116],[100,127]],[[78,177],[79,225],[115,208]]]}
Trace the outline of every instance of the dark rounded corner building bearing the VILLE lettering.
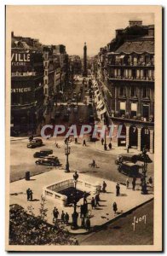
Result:
{"label": "dark rounded corner building bearing the VILLE lettering", "polygon": [[35,133],[44,111],[42,44],[14,32],[11,39],[11,134]]}

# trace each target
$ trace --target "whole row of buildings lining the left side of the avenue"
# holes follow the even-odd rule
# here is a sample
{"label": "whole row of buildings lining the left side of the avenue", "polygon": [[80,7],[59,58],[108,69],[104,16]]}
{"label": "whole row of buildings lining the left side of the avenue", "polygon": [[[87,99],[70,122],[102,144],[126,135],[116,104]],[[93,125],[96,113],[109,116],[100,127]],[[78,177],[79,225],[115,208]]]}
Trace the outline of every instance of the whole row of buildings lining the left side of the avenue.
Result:
{"label": "whole row of buildings lining the left side of the avenue", "polygon": [[11,45],[11,134],[36,133],[55,98],[69,84],[64,45],[14,36]]}

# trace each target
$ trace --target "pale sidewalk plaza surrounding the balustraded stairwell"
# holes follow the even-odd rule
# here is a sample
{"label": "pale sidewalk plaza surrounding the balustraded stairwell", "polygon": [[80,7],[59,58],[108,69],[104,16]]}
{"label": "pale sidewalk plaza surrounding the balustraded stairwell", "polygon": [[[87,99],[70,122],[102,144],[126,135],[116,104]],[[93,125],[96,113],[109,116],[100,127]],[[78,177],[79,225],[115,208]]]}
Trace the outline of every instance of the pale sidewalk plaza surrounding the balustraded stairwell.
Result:
{"label": "pale sidewalk plaza surrounding the balustraded stairwell", "polygon": [[[74,172],[74,170],[73,170]],[[53,169],[50,172],[44,172],[37,176],[33,176],[30,181],[24,179],[10,183],[10,197],[9,203],[18,204],[28,210],[28,207],[32,207],[32,212],[37,216],[39,214],[40,208],[40,198],[42,195],[43,186],[49,185],[50,183],[55,183],[60,180],[65,180],[72,178],[73,173],[66,173],[63,169]],[[101,183],[104,179],[99,177],[89,177],[84,174],[79,173],[79,179],[82,179],[86,182]],[[121,217],[124,212],[129,212],[135,207],[139,207],[141,204],[146,203],[153,199],[153,191],[150,190],[148,195],[141,195],[141,187],[139,184],[136,184],[136,190],[133,191],[130,188],[127,189],[124,185],[120,184],[120,195],[116,196],[116,183],[106,180],[107,183],[107,193],[101,193],[100,195],[100,207],[97,209],[91,209],[90,201],[91,197],[95,195],[89,195],[87,201],[89,203],[89,214],[90,214],[90,224],[91,230],[95,230],[101,227],[101,225],[107,224],[107,222],[112,221],[114,218]],[[26,201],[26,189],[32,189],[33,191],[33,201]],[[140,190],[139,190],[140,189]],[[115,214],[112,210],[113,202],[116,202],[118,205],[118,212]],[[80,212],[80,205],[83,204],[83,199],[78,201],[77,212]],[[48,208],[47,212],[47,222],[53,224],[53,208],[57,207],[58,211],[61,213],[68,212],[70,216],[70,223],[72,223],[72,212],[73,207],[61,207],[58,201],[48,200],[46,201],[46,207]],[[29,212],[31,213],[31,212]],[[59,216],[60,218],[60,216]],[[81,225],[81,219],[78,216],[78,225]],[[66,227],[66,225],[65,225]],[[71,230],[71,226],[66,227],[71,233],[75,234],[84,234],[87,233],[84,229]]]}

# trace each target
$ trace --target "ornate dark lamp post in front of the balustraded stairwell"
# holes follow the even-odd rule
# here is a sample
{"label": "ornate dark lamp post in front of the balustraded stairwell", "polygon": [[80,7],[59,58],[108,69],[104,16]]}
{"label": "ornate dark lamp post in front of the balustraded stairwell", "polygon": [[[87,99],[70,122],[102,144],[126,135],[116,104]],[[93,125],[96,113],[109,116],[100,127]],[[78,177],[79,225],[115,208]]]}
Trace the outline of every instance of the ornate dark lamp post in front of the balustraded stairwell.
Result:
{"label": "ornate dark lamp post in front of the balustraded stairwell", "polygon": [[73,213],[72,213],[72,230],[78,229],[78,212],[77,212],[77,183],[78,183],[78,173],[75,172],[73,175],[74,183],[74,194],[73,194]]}

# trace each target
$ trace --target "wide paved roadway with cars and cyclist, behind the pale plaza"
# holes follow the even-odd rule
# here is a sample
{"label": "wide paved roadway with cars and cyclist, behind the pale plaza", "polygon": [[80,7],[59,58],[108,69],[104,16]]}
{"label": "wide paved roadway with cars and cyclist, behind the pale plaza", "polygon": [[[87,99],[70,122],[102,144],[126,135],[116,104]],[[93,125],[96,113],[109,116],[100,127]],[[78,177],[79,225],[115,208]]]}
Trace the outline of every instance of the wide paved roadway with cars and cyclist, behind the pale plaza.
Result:
{"label": "wide paved roadway with cars and cyclist, behind the pale plaza", "polygon": [[[44,148],[53,149],[53,154],[60,159],[60,163],[65,167],[66,155],[63,137],[58,137],[56,142],[60,145],[60,148],[55,148],[55,138],[53,137],[49,141],[43,139],[44,146],[40,148],[26,148],[28,139],[11,142],[11,181],[25,177],[26,171],[30,171],[31,175],[35,175],[50,170],[50,167],[47,166],[36,166],[35,160],[37,159],[33,157],[35,152]],[[116,155],[106,154],[106,152],[103,152],[102,146],[101,151],[98,151],[95,147],[95,143],[87,143],[87,147],[83,147],[82,140],[78,144],[75,144],[73,141],[70,147],[70,168],[87,175],[125,183],[127,176],[118,172],[118,166],[115,165]],[[112,150],[114,152],[116,149]],[[93,159],[95,159],[98,168],[89,167],[89,163]],[[153,163],[148,164],[147,176],[153,177]],[[138,179],[138,183],[140,183],[140,179]]]}

